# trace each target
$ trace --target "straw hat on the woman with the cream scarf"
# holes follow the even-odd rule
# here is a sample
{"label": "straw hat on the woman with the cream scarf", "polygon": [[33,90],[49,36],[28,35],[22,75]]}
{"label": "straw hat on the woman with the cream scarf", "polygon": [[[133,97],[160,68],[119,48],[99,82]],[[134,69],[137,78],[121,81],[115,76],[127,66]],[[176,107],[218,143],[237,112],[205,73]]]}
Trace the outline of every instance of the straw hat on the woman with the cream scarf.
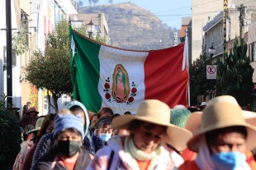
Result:
{"label": "straw hat on the woman with the cream scarf", "polygon": [[112,129],[127,129],[130,122],[140,120],[160,126],[167,126],[167,136],[164,141],[175,149],[183,150],[187,141],[192,138],[192,133],[184,128],[170,124],[170,108],[167,104],[157,99],[148,99],[140,103],[135,116],[123,115],[116,117],[112,122]]}

